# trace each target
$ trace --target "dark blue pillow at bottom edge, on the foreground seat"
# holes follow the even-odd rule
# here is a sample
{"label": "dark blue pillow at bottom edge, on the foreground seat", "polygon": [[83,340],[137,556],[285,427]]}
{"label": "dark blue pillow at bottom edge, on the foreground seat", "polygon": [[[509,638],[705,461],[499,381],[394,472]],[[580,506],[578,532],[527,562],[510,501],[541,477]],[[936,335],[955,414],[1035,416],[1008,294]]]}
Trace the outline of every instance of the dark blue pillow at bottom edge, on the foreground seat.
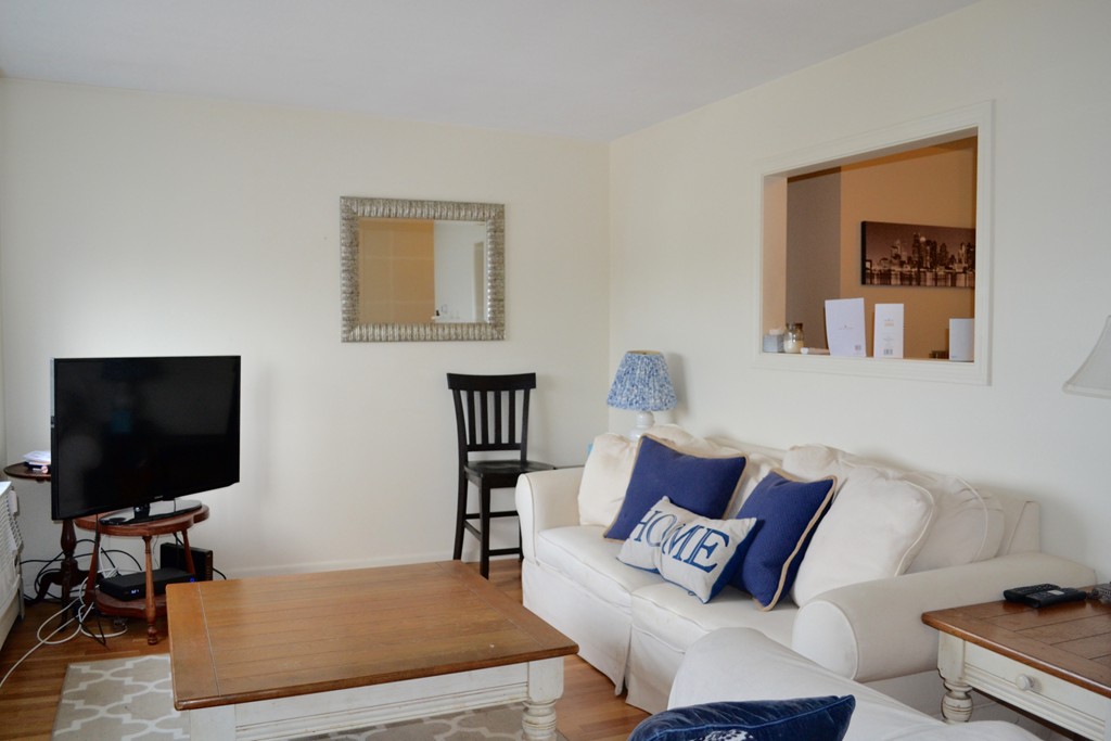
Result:
{"label": "dark blue pillow at bottom edge, on the foreground seat", "polygon": [[657,713],[629,741],[841,741],[857,699],[844,697],[709,702]]}

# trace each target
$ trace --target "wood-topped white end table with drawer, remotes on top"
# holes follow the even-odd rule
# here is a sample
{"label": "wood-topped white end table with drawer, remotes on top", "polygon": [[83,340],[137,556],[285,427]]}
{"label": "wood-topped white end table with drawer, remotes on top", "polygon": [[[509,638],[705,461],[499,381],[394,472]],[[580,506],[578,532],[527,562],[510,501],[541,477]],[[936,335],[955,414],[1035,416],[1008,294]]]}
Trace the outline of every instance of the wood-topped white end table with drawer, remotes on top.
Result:
{"label": "wood-topped white end table with drawer, remotes on top", "polygon": [[987,602],[922,615],[938,629],[941,711],[969,720],[980,690],[1085,739],[1111,739],[1111,604]]}

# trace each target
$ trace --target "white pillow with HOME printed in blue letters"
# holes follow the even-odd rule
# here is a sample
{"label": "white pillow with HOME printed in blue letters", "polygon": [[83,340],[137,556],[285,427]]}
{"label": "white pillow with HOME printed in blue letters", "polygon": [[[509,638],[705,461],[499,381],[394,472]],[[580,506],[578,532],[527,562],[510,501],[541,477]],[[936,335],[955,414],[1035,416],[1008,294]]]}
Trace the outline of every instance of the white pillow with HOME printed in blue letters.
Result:
{"label": "white pillow with HOME printed in blue letters", "polygon": [[728,584],[757,530],[757,521],[713,520],[675,507],[664,497],[649,508],[621,544],[618,559],[657,571],[702,602]]}

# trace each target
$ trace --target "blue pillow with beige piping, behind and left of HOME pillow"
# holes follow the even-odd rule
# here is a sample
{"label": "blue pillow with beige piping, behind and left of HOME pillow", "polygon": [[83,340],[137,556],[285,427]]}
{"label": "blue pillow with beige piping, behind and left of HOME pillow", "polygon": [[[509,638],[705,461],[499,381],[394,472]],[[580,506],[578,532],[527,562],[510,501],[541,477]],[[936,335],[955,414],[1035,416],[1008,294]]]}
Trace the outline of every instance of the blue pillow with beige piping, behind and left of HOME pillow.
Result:
{"label": "blue pillow with beige piping, behind and left of HOME pillow", "polygon": [[740,484],[744,460],[744,455],[702,458],[681,453],[645,434],[637,449],[621,510],[605,538],[625,540],[664,497],[695,514],[720,518]]}

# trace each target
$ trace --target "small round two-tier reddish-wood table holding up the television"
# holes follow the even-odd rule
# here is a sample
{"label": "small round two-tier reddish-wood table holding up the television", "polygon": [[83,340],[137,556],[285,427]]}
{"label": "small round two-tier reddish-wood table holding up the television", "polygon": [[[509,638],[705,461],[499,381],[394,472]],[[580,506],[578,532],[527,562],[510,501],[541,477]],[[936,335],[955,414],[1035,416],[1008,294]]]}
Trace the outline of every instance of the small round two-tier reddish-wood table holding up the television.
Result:
{"label": "small round two-tier reddish-wood table holding up the television", "polygon": [[[172,502],[171,502],[172,503]],[[180,504],[181,502],[179,502]],[[204,504],[188,510],[178,510],[168,517],[153,520],[119,522],[112,512],[93,514],[78,518],[73,523],[82,530],[91,530],[96,533],[92,545],[92,560],[89,563],[89,579],[84,583],[84,600],[87,603],[96,604],[102,614],[121,615],[126,618],[147,619],[147,643],[154,645],[158,643],[158,629],[154,621],[159,615],[166,614],[166,595],[154,594],[154,560],[151,555],[151,539],[156,535],[172,535],[181,533],[181,540],[186,547],[186,571],[197,575],[197,568],[193,564],[192,551],[189,548],[189,529],[198,522],[208,519],[209,509]],[[108,522],[111,520],[111,522]],[[143,548],[147,555],[147,594],[142,602],[139,600],[118,600],[109,594],[104,594],[97,588],[98,560],[100,555],[100,537],[120,535],[123,538],[142,538]]]}

